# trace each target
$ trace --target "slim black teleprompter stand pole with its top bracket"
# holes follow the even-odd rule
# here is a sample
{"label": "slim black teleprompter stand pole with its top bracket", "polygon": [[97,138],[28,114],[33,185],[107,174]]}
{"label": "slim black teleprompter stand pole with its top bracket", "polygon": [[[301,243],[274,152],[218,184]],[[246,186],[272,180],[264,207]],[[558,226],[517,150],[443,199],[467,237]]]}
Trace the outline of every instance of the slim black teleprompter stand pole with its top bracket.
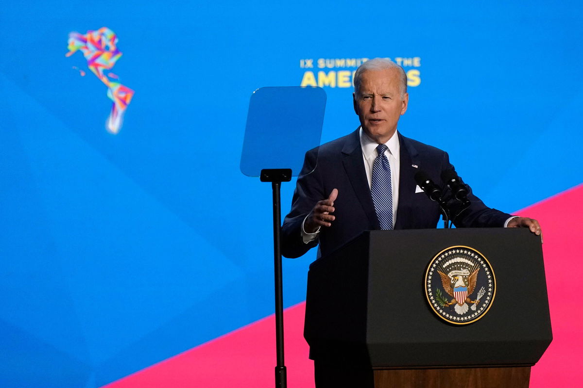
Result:
{"label": "slim black teleprompter stand pole with its top bracket", "polygon": [[275,386],[276,388],[287,388],[286,365],[283,359],[283,278],[280,245],[282,212],[279,193],[282,182],[291,180],[291,169],[263,169],[260,179],[262,182],[271,182],[273,190],[273,268],[275,269],[275,341],[277,351]]}

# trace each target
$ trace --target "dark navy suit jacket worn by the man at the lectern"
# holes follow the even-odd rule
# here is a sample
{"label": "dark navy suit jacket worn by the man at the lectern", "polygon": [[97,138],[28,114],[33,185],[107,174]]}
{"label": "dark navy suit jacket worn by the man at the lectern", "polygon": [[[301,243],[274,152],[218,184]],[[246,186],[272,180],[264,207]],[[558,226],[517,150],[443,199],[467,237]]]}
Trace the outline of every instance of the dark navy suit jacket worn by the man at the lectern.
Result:
{"label": "dark navy suit jacket worn by the man at the lectern", "polygon": [[[425,193],[415,193],[417,184],[414,176],[418,170],[423,170],[444,188],[441,173],[454,170],[454,166],[449,163],[447,152],[400,133],[398,136],[401,160],[395,229],[435,228],[440,218],[440,208]],[[333,188],[338,188],[338,198],[334,201],[336,219],[332,226],[321,228],[317,240],[304,244],[300,231],[305,216],[316,202],[328,198]],[[468,198],[470,208],[453,220],[456,227],[501,227],[511,217],[486,207],[471,191]],[[283,220],[282,254],[290,258],[300,257],[319,243],[319,253],[324,256],[364,230],[374,229],[380,229],[380,225],[364,169],[359,130],[306,152],[291,211]]]}

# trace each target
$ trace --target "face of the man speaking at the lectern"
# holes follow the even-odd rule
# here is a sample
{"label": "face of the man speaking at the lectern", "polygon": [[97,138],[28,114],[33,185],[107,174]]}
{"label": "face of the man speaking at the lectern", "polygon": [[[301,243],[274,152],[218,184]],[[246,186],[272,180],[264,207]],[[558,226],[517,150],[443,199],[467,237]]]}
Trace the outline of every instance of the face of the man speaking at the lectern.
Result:
{"label": "face of the man speaking at the lectern", "polygon": [[395,69],[365,70],[360,81],[358,94],[353,93],[354,112],[371,139],[387,143],[407,111],[409,94],[401,97],[402,81]]}

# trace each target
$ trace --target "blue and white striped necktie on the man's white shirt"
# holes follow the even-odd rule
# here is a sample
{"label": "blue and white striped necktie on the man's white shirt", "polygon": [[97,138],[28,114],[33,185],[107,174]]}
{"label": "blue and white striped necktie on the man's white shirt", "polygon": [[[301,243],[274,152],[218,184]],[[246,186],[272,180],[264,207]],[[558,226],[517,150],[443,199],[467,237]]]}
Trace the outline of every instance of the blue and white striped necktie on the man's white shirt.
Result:
{"label": "blue and white striped necktie on the man's white shirt", "polygon": [[382,230],[393,229],[393,191],[391,189],[391,165],[385,155],[387,146],[377,147],[377,158],[373,163],[373,179],[370,194],[373,197],[374,209]]}

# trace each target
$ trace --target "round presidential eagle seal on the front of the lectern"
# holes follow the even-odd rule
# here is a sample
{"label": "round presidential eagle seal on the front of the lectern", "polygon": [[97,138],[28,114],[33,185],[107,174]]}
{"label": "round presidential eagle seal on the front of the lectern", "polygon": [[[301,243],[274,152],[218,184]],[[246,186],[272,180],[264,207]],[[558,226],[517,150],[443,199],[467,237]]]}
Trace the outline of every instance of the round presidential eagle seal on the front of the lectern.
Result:
{"label": "round presidential eagle seal on the front of the lectern", "polygon": [[427,266],[425,294],[440,318],[466,325],[490,309],[496,295],[496,277],[480,252],[456,245],[439,252]]}

